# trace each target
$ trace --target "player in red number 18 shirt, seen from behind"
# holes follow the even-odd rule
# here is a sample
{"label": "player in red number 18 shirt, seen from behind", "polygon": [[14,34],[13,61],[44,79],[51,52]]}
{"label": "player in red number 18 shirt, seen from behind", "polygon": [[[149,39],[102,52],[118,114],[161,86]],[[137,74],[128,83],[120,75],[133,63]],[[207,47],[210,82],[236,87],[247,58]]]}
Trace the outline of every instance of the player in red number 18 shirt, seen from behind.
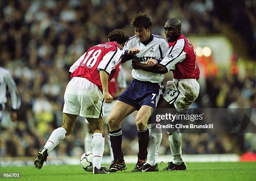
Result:
{"label": "player in red number 18 shirt, seen from behind", "polygon": [[120,50],[128,36],[123,30],[113,30],[108,34],[109,42],[95,45],[87,50],[70,67],[71,80],[64,94],[62,126],[55,129],[43,149],[34,160],[41,169],[48,154],[74,130],[77,116],[86,117],[92,131],[93,174],[108,174],[100,165],[104,151],[104,111],[103,102],[111,103],[113,97],[108,92],[108,82],[114,77],[121,63]]}

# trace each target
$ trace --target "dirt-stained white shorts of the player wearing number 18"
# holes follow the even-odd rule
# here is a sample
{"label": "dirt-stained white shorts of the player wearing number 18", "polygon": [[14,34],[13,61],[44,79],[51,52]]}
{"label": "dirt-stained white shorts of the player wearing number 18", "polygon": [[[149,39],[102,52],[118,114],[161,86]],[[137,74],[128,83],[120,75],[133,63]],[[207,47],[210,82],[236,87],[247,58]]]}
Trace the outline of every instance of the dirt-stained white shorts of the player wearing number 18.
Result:
{"label": "dirt-stained white shorts of the player wearing number 18", "polygon": [[64,94],[63,113],[89,118],[104,117],[103,95],[100,89],[82,77],[73,77]]}

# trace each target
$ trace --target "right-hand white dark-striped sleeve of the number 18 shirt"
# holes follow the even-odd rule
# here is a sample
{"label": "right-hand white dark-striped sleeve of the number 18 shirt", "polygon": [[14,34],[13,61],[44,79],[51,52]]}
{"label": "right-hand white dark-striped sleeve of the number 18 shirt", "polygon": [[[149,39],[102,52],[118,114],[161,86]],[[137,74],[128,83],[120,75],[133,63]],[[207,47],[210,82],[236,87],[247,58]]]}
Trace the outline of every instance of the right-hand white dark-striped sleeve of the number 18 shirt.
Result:
{"label": "right-hand white dark-striped sleeve of the number 18 shirt", "polygon": [[122,58],[122,51],[118,47],[115,47],[115,51],[110,51],[106,55],[104,55],[97,69],[104,70],[110,75],[111,71],[121,61],[121,58]]}

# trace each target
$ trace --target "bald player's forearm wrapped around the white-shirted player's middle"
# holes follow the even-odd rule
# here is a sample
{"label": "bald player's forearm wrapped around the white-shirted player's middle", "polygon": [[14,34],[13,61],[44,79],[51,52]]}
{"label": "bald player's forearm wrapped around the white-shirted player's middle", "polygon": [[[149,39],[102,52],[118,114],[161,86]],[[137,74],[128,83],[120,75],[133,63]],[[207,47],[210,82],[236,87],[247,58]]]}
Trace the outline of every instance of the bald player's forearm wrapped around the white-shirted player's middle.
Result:
{"label": "bald player's forearm wrapped around the white-shirted player's middle", "polygon": [[153,67],[150,67],[146,64],[142,64],[137,59],[133,59],[132,67],[133,67],[133,69],[143,69],[147,72],[153,72],[153,73],[158,73],[158,74],[165,74],[168,72],[167,68],[160,64],[155,64]]}

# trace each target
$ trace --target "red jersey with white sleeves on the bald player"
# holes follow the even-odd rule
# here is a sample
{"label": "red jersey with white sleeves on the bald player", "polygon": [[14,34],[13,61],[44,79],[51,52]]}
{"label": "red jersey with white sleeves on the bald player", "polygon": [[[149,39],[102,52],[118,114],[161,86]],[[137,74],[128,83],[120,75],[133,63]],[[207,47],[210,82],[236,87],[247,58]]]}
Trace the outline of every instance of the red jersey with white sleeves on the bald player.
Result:
{"label": "red jersey with white sleeves on the bald player", "polygon": [[199,79],[200,77],[195,49],[183,34],[175,42],[169,42],[169,50],[160,64],[168,71],[172,70],[174,79]]}

